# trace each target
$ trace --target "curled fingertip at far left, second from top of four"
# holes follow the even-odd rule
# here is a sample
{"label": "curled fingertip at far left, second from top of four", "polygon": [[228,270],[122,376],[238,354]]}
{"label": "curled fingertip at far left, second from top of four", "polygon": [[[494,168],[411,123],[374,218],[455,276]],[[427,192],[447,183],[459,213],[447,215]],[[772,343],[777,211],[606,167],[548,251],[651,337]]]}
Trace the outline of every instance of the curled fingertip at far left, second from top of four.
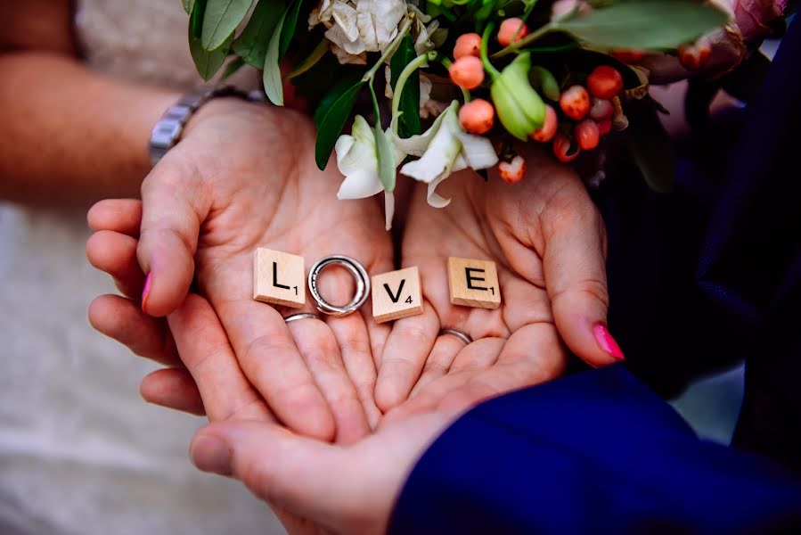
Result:
{"label": "curled fingertip at far left, second from top of four", "polygon": [[108,273],[127,297],[139,300],[144,274],[136,262],[134,237],[110,230],[99,230],[86,241],[86,259],[95,268]]}

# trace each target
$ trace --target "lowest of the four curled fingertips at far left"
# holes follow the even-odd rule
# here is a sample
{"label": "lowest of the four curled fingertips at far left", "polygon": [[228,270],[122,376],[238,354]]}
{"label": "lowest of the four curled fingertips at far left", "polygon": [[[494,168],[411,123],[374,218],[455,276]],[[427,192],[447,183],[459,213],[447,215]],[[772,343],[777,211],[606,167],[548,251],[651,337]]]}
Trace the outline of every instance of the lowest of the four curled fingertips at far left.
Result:
{"label": "lowest of the four curled fingertips at far left", "polygon": [[185,369],[165,368],[144,376],[139,393],[148,403],[205,416],[198,385]]}

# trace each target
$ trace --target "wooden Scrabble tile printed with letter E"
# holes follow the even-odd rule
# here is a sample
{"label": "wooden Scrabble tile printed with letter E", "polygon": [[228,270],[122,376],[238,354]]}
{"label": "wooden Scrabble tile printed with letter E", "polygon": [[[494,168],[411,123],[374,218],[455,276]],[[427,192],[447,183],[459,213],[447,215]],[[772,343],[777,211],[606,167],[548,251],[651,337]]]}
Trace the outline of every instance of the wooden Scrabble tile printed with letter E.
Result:
{"label": "wooden Scrabble tile printed with letter E", "polygon": [[448,259],[448,288],[454,305],[497,309],[501,306],[498,271],[489,260]]}

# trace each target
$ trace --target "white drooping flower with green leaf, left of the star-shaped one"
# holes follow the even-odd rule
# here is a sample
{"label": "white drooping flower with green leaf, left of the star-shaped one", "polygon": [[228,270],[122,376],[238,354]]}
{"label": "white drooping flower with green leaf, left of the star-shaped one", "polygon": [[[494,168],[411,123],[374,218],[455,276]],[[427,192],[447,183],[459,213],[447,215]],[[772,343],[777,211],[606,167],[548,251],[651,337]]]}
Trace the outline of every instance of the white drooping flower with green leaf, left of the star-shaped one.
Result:
{"label": "white drooping flower with green leaf, left of the star-shaped one", "polygon": [[[391,138],[390,144],[392,144]],[[395,166],[397,166],[403,161],[405,154],[400,152],[394,144],[392,144],[392,148],[395,152]],[[356,115],[351,135],[339,136],[334,150],[337,152],[339,172],[345,175],[345,180],[339,185],[338,199],[364,199],[384,190],[379,176],[375,134],[364,117]],[[395,210],[395,198],[391,192],[385,192],[384,195],[387,209],[387,230],[389,230]]]}

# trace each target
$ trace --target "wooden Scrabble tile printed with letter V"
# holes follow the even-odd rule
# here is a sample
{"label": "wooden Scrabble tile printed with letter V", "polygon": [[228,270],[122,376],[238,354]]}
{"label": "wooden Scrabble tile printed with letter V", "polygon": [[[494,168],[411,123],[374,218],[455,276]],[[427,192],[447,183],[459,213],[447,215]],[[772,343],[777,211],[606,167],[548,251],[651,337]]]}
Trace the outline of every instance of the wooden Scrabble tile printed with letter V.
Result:
{"label": "wooden Scrabble tile printed with letter V", "polygon": [[422,314],[422,294],[416,267],[372,277],[372,317],[376,323],[418,314]]}

